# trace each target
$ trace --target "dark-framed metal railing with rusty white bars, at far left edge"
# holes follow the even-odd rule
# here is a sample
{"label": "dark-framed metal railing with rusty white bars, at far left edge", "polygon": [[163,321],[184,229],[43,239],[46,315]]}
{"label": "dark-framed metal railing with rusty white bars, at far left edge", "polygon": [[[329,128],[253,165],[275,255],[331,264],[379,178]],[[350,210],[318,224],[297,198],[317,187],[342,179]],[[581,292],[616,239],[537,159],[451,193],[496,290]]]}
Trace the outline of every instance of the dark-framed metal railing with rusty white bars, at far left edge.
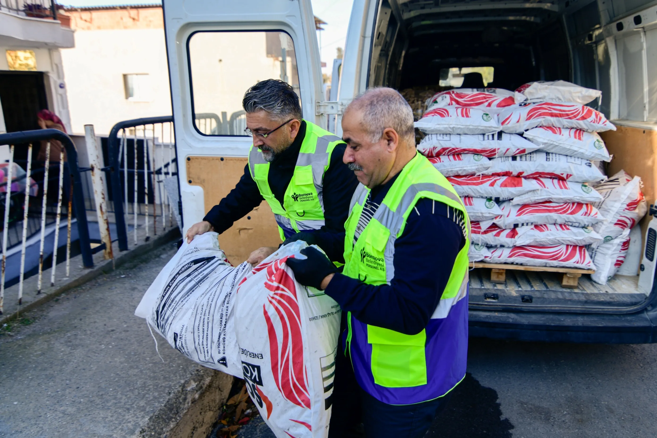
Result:
{"label": "dark-framed metal railing with rusty white bars, at far left edge", "polygon": [[[59,157],[53,157],[55,160],[50,160],[50,152],[53,149],[51,145],[52,140],[57,140],[61,143],[66,151],[60,151]],[[39,144],[37,142],[45,141],[45,160],[43,162],[35,162],[32,159],[33,145]],[[0,274],[0,314],[3,312],[4,294],[5,294],[5,278],[7,274],[7,261],[11,249],[9,245],[10,230],[20,226],[21,232],[21,252],[20,252],[20,278],[18,289],[18,304],[22,304],[23,284],[26,274],[26,252],[28,239],[34,237],[40,231],[39,238],[39,265],[38,265],[38,290],[37,294],[41,292],[42,276],[43,276],[43,262],[44,262],[44,248],[46,243],[46,231],[49,224],[55,223],[54,241],[53,241],[53,260],[51,270],[51,285],[55,284],[55,269],[57,267],[57,252],[59,245],[59,231],[60,220],[62,218],[62,207],[64,207],[64,199],[68,207],[64,207],[64,213],[67,222],[67,239],[66,239],[66,276],[69,275],[70,269],[70,249],[71,249],[71,231],[72,231],[72,216],[76,218],[76,225],[79,238],[79,250],[82,255],[82,263],[85,268],[93,268],[93,256],[91,251],[91,240],[89,239],[89,228],[87,224],[87,213],[85,211],[82,182],[80,172],[87,169],[78,168],[78,151],[76,150],[73,141],[64,132],[54,129],[35,130],[12,132],[9,134],[0,134],[0,145],[9,145],[9,160],[7,166],[3,167],[3,182],[0,183],[0,188],[5,189],[4,199],[4,215],[3,215],[3,237],[2,237],[2,264]],[[59,149],[59,148],[57,148]],[[26,152],[26,159],[18,158],[18,153]],[[56,163],[56,164],[53,164]],[[20,166],[24,165],[24,168]],[[58,170],[54,172],[54,170]],[[5,174],[6,170],[6,174]],[[43,172],[43,183],[41,189],[41,205],[39,208],[38,202],[35,205],[34,201],[38,201],[36,193],[34,193],[34,185],[32,177],[37,177]],[[51,185],[52,174],[57,174],[57,207],[48,208],[48,191]],[[64,178],[64,176],[68,176]],[[14,184],[24,181],[24,187],[16,187],[14,191]],[[22,193],[20,193],[22,188]],[[37,187],[38,190],[38,187]],[[52,193],[51,193],[52,195]],[[31,199],[34,201],[31,202]],[[20,204],[14,201],[22,201],[22,210]],[[20,216],[22,214],[22,220]],[[39,228],[35,227],[36,217],[39,217]],[[48,217],[53,218],[54,221],[48,220]],[[10,219],[13,220],[10,220]],[[18,242],[14,242],[16,246]],[[14,253],[15,254],[15,253]]]}

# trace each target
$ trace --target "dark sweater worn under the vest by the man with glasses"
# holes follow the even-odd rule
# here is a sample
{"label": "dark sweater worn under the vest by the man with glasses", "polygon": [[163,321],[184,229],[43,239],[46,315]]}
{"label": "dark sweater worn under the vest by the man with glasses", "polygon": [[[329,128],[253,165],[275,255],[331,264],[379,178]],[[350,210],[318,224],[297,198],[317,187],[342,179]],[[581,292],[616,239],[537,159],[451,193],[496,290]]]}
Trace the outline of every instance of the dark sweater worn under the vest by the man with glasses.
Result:
{"label": "dark sweater worn under the vest by the man with glasses", "polygon": [[[306,122],[302,121],[299,133],[294,138],[292,145],[269,164],[267,181],[271,192],[281,205],[283,205],[285,191],[292,180],[296,159],[305,136]],[[323,182],[325,226],[314,231],[317,245],[327,253],[331,260],[337,262],[344,261],[344,222],[349,214],[351,195],[358,185],[358,180],[353,172],[342,162],[345,147],[346,144],[339,143],[331,154]],[[263,200],[247,164],[244,166],[244,174],[235,185],[235,189],[221,199],[219,205],[212,207],[203,220],[210,222],[214,231],[221,234],[231,228],[236,220],[243,218],[258,207]],[[342,236],[342,240],[340,240],[340,236]]]}

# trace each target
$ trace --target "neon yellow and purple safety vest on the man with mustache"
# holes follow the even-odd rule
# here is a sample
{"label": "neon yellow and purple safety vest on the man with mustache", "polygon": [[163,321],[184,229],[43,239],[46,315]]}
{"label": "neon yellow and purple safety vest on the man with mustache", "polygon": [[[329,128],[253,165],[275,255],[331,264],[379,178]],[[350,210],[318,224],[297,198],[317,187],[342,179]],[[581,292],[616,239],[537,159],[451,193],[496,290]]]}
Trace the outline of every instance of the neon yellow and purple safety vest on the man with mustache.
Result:
{"label": "neon yellow and purple safety vest on the man with mustache", "polygon": [[[395,241],[422,197],[462,212],[469,235],[470,224],[461,199],[422,155],[416,155],[403,168],[354,243],[355,229],[368,195],[369,189],[359,185],[351,199],[350,216],[345,224],[343,274],[352,278],[369,284],[390,284],[394,278]],[[428,326],[417,335],[364,324],[349,314],[347,338],[355,376],[361,387],[376,399],[388,404],[427,401],[442,397],[464,377],[468,235]]]}

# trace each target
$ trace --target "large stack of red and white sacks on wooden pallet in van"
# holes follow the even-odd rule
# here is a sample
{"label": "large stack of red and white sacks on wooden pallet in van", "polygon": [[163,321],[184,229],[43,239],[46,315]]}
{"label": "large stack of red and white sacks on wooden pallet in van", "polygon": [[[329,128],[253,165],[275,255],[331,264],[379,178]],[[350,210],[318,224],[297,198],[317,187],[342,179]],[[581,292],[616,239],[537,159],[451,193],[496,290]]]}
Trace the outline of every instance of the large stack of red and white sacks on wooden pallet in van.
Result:
{"label": "large stack of red and white sacks on wooden pallet in van", "polygon": [[[594,269],[585,246],[602,240],[593,226],[604,218],[593,205],[602,196],[589,183],[606,178],[593,161],[610,160],[595,132],[616,128],[583,106],[599,91],[562,81],[534,84],[516,92],[439,93],[416,123],[429,134],[418,149],[432,157],[461,197],[472,199],[464,201],[468,214],[476,213],[470,260]],[[470,99],[463,97],[466,92]],[[482,122],[475,123],[475,115]],[[495,118],[497,132],[484,133]],[[455,154],[472,158],[444,157]],[[474,165],[476,155],[482,158]],[[502,211],[494,218],[475,207],[493,202]]]}

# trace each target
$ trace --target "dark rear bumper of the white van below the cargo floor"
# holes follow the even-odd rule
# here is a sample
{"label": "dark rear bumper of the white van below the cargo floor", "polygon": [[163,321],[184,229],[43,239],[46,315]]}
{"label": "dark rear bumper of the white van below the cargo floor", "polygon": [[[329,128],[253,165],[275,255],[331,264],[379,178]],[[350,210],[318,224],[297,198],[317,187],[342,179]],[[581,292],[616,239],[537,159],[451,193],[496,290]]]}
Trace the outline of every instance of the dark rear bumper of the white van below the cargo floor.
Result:
{"label": "dark rear bumper of the white van below the cargo floor", "polygon": [[633,314],[470,310],[470,336],[516,341],[657,343],[657,308]]}

